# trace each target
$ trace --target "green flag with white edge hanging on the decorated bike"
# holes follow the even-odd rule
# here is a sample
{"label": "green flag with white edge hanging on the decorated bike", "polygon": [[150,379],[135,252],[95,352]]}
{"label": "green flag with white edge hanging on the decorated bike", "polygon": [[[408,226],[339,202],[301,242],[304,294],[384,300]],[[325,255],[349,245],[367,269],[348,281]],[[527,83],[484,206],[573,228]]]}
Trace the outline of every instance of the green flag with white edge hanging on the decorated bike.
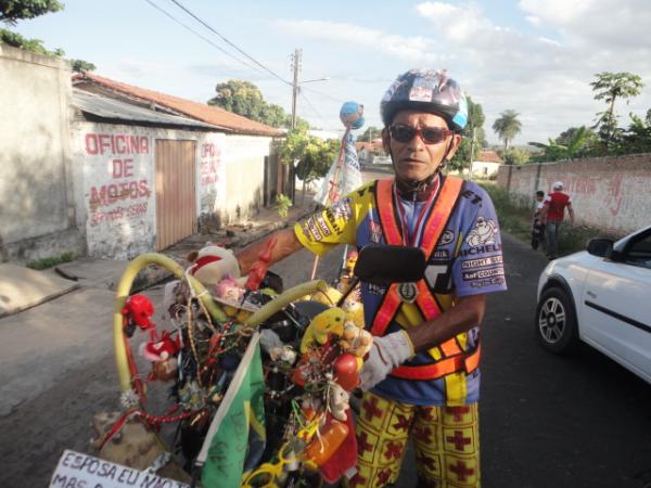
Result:
{"label": "green flag with white edge hanging on the decorated bike", "polygon": [[259,334],[252,338],[196,458],[205,488],[238,488],[265,449],[265,378]]}

